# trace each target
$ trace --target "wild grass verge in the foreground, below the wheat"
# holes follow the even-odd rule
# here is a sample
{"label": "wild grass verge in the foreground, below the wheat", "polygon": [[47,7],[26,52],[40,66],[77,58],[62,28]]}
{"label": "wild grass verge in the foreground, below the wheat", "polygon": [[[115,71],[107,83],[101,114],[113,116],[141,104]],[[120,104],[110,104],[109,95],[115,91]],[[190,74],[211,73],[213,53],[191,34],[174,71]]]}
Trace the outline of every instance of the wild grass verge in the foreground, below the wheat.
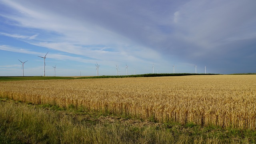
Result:
{"label": "wild grass verge in the foreground, below the wheat", "polygon": [[0,98],[0,143],[255,143],[254,130],[155,123]]}

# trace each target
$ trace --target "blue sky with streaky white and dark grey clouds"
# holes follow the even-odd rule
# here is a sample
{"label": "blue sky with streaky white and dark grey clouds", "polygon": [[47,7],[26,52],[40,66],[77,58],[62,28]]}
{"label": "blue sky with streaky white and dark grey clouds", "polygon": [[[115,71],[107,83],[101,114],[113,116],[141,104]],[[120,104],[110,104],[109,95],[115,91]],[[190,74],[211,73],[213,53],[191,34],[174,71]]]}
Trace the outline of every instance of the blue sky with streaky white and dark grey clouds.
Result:
{"label": "blue sky with streaky white and dark grey clouds", "polygon": [[[255,73],[256,0],[0,0],[0,76]],[[20,60],[20,61],[19,61]],[[154,65],[154,67],[153,67]],[[126,69],[126,66],[127,69]],[[175,66],[175,67],[174,67]],[[206,68],[205,68],[206,67]],[[127,73],[126,73],[127,70]]]}

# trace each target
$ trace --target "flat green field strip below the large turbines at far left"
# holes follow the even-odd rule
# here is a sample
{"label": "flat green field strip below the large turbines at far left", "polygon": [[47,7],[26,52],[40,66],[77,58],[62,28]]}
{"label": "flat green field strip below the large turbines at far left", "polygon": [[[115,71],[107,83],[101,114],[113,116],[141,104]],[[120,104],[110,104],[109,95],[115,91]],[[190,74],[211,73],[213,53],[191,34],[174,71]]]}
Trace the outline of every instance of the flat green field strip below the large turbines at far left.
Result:
{"label": "flat green field strip below the large turbines at far left", "polygon": [[0,76],[0,81],[72,79],[61,76]]}

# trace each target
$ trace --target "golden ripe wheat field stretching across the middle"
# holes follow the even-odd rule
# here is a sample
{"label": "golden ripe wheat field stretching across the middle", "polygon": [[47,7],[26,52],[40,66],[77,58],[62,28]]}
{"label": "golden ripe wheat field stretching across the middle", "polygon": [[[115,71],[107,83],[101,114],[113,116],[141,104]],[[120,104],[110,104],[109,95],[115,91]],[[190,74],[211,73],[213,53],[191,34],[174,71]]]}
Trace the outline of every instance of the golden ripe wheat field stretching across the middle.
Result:
{"label": "golden ripe wheat field stretching across the middle", "polygon": [[0,82],[0,96],[159,122],[256,128],[256,75]]}

